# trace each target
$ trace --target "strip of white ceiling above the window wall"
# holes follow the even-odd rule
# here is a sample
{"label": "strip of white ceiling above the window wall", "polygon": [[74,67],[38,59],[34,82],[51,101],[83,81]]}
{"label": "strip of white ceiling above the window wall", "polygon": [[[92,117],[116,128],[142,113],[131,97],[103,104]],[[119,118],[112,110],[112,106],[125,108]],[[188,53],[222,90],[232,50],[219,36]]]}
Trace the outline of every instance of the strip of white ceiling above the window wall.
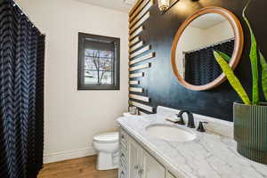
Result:
{"label": "strip of white ceiling above the window wall", "polygon": [[135,0],[75,0],[85,4],[93,4],[120,12],[129,12]]}

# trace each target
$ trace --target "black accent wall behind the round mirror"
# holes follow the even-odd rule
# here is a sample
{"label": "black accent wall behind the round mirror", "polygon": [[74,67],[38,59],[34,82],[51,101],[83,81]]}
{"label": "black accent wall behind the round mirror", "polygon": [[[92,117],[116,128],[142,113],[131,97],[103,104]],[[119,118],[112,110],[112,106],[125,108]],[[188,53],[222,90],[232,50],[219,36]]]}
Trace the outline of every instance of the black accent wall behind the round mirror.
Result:
{"label": "black accent wall behind the round mirror", "polygon": [[[204,92],[194,92],[184,88],[174,77],[170,54],[177,29],[192,12],[206,6],[220,6],[230,10],[238,16],[245,33],[245,48],[235,73],[251,97],[252,79],[248,58],[250,37],[247,26],[242,20],[242,9],[245,3],[245,0],[200,0],[199,2],[181,0],[163,15],[158,11],[158,3],[153,5],[150,9],[150,19],[144,23],[142,39],[146,44],[152,45],[156,58],[150,60],[152,66],[147,70],[147,76],[141,79],[141,86],[146,89],[146,95],[151,98],[151,106],[189,109],[201,115],[232,121],[232,103],[239,101],[239,97],[232,90],[231,85],[226,81],[223,85]],[[266,0],[253,0],[247,10],[247,16],[265,56],[267,56],[266,8]],[[262,93],[261,98],[263,101]]]}

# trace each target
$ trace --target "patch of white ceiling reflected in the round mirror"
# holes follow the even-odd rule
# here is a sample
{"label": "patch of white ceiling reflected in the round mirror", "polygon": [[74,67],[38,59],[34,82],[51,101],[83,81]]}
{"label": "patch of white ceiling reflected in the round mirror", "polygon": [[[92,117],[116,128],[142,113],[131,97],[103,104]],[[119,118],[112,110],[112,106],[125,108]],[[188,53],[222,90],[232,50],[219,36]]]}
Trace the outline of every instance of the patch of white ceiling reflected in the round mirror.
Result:
{"label": "patch of white ceiling reflected in the round mirror", "polygon": [[211,28],[214,27],[215,25],[218,25],[227,19],[223,17],[221,14],[217,13],[206,13],[197,19],[193,20],[190,23],[191,27],[194,28],[200,28],[200,29],[206,29],[206,28]]}

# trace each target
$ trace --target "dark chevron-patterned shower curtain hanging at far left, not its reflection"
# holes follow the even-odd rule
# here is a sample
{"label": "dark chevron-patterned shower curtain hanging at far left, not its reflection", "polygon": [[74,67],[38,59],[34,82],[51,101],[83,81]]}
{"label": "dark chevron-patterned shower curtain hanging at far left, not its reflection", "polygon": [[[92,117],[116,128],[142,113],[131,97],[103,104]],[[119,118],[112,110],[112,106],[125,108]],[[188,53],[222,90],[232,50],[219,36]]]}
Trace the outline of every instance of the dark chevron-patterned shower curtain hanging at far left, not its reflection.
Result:
{"label": "dark chevron-patterned shower curtain hanging at far left, not its reflection", "polygon": [[36,177],[43,148],[44,36],[0,0],[0,177]]}

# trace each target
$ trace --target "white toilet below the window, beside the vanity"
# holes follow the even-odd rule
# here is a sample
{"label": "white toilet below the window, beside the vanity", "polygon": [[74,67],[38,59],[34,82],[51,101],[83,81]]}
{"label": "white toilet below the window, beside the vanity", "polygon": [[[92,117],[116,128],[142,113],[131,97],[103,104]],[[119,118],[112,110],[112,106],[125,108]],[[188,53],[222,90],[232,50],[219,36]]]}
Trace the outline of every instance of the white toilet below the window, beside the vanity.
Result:
{"label": "white toilet below the window, beside the vanity", "polygon": [[95,135],[93,148],[97,151],[97,170],[118,167],[118,132]]}

